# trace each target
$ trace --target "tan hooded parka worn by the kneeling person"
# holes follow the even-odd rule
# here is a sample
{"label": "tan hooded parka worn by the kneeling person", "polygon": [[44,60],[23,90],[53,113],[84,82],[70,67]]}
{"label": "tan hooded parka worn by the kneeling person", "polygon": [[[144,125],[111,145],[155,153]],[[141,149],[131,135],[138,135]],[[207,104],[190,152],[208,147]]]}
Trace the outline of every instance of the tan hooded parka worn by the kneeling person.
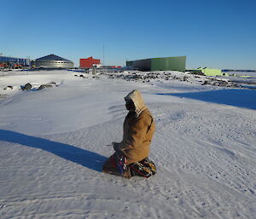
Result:
{"label": "tan hooded parka worn by the kneeling person", "polygon": [[127,100],[133,101],[136,108],[135,112],[129,112],[125,118],[123,140],[119,143],[119,150],[125,154],[128,165],[148,157],[155,124],[137,89],[125,96]]}

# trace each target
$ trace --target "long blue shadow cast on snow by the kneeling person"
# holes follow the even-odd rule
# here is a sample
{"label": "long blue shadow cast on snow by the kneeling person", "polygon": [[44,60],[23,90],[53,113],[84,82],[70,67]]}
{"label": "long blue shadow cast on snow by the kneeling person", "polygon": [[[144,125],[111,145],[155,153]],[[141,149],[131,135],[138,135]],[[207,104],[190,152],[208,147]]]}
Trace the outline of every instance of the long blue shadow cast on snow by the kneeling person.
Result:
{"label": "long blue shadow cast on snow by the kneeling person", "polygon": [[0,141],[8,141],[27,147],[39,148],[96,171],[102,171],[102,164],[107,159],[98,153],[90,152],[79,147],[24,135],[10,130],[0,130]]}

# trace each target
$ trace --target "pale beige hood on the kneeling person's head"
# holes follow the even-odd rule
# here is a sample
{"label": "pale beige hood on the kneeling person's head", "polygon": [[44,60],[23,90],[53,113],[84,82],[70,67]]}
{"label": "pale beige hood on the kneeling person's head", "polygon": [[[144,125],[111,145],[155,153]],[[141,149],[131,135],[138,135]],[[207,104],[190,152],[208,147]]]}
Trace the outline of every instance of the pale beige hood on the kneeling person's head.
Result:
{"label": "pale beige hood on the kneeling person's head", "polygon": [[144,104],[143,96],[141,95],[141,92],[137,89],[134,89],[131,91],[130,94],[125,96],[125,101],[133,101],[135,106],[135,112],[137,114],[137,117],[140,115],[143,110],[145,110],[147,107]]}

